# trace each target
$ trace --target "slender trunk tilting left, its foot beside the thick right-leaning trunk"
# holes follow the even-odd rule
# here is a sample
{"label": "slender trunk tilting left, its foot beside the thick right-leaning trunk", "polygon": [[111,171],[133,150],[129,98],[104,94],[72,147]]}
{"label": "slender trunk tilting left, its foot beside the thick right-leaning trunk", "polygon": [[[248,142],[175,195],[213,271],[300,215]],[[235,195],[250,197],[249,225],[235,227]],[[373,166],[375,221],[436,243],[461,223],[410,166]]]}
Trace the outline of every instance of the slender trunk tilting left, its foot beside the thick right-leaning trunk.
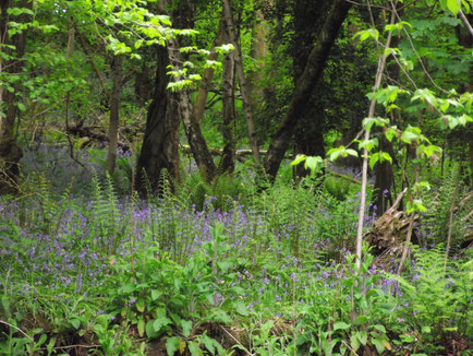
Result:
{"label": "slender trunk tilting left, its foot beside the thick right-leaning trunk", "polygon": [[248,133],[250,139],[250,146],[253,152],[253,157],[255,159],[255,163],[257,166],[260,166],[262,158],[259,156],[259,147],[257,143],[257,137],[256,137],[256,130],[255,130],[255,123],[253,120],[253,112],[245,80],[245,73],[243,69],[243,61],[242,61],[242,52],[240,44],[237,39],[237,31],[235,25],[233,22],[233,14],[231,10],[230,0],[222,0],[222,9],[223,9],[223,17],[226,22],[226,31],[229,35],[230,43],[234,46],[234,56],[235,56],[235,66],[237,66],[237,74],[239,76],[240,82],[240,91],[243,99],[243,110],[245,114],[246,119],[246,129]]}

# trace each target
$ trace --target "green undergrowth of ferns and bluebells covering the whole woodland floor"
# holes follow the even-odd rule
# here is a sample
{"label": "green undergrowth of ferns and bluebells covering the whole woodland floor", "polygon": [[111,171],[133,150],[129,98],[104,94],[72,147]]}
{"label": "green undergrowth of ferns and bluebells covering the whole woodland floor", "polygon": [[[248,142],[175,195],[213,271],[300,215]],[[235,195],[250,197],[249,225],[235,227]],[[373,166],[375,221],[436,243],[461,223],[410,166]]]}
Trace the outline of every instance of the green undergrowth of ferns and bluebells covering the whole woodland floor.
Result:
{"label": "green undergrowth of ferns and bluebells covering the whole woodland floor", "polygon": [[148,201],[41,177],[4,197],[0,354],[472,354],[471,250],[444,265],[444,244],[414,247],[398,276],[365,247],[357,269],[350,189],[222,177],[197,206],[190,179]]}

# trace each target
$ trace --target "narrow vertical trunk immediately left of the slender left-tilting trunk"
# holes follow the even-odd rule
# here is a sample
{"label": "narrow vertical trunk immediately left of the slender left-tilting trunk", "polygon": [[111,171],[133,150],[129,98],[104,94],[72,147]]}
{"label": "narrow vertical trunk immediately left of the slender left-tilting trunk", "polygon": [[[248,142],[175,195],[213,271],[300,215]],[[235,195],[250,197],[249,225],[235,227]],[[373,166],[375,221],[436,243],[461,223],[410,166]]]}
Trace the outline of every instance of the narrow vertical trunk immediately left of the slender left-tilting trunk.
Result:
{"label": "narrow vertical trunk immediately left of the slender left-tilting trunk", "polygon": [[[228,33],[225,34],[225,40],[229,41]],[[235,161],[235,143],[233,140],[232,128],[235,122],[234,108],[234,84],[235,84],[235,62],[234,52],[225,56],[223,59],[223,85],[222,85],[222,106],[223,106],[223,151],[220,158],[219,171],[233,171]]]}

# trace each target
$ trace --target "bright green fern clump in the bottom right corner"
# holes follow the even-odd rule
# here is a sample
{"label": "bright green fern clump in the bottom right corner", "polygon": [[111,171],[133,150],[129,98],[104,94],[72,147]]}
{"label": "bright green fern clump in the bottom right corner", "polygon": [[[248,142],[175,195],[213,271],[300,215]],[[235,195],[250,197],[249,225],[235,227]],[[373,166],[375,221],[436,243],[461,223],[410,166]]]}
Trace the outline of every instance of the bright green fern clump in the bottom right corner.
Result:
{"label": "bright green fern clump in the bottom right corner", "polygon": [[[471,257],[471,251],[466,253]],[[422,339],[416,341],[417,349],[439,353],[441,347],[436,344],[442,337],[472,333],[469,322],[472,318],[472,262],[469,258],[449,261],[445,269],[445,245],[427,251],[413,247],[413,256],[412,278],[389,277],[399,282],[408,302],[400,309],[400,316],[409,320],[410,329],[423,331]]]}

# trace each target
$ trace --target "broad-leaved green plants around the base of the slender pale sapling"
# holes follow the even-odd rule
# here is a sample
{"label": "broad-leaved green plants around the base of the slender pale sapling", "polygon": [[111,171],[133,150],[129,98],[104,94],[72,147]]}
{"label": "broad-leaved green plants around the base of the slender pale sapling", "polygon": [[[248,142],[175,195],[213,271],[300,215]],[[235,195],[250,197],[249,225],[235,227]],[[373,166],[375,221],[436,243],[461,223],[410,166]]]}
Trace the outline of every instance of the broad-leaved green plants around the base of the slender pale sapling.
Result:
{"label": "broad-leaved green plants around the base of the slender pale sapling", "polygon": [[[380,275],[369,274],[373,256],[365,253],[361,270],[355,266],[352,254],[345,264],[333,266],[330,273],[351,276],[335,280],[330,288],[323,288],[325,281],[313,282],[305,293],[302,319],[298,323],[296,345],[307,347],[310,353],[340,355],[372,346],[379,354],[392,349],[389,329],[398,329],[392,318],[395,305],[389,295],[379,288]],[[347,342],[345,342],[347,340]],[[303,346],[304,345],[304,346]]]}

